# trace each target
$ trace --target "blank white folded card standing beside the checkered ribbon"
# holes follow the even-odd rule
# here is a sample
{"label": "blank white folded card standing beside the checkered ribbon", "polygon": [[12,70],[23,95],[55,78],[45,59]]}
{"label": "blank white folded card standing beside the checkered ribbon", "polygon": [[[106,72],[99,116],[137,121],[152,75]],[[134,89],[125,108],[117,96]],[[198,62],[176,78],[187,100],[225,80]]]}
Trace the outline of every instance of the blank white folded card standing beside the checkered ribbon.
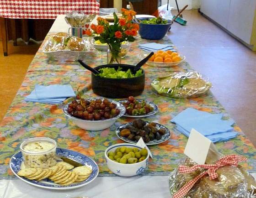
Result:
{"label": "blank white folded card standing beside the checkered ribbon", "polygon": [[192,129],[187,141],[184,154],[191,158],[197,164],[204,164],[209,149],[215,149],[212,141],[203,136],[197,130]]}

